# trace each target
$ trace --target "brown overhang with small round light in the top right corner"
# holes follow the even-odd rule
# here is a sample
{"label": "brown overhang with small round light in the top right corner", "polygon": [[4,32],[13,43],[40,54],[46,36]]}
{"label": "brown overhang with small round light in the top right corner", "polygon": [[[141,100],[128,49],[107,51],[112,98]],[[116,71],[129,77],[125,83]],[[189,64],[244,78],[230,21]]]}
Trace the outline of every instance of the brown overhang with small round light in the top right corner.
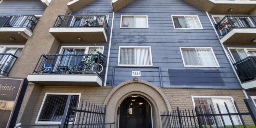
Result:
{"label": "brown overhang with small round light in the top right corner", "polygon": [[[255,0],[184,0],[209,13],[249,14],[256,8]],[[232,11],[230,11],[232,9]]]}

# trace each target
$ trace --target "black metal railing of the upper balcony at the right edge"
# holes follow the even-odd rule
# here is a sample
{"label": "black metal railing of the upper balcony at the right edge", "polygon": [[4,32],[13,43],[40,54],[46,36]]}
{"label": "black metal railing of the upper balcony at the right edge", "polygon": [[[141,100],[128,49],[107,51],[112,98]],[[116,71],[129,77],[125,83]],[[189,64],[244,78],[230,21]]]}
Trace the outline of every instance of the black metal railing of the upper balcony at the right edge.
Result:
{"label": "black metal railing of the upper balcony at the right edge", "polygon": [[215,28],[219,31],[219,37],[224,37],[230,30],[234,28],[256,28],[256,16],[231,16],[226,15],[220,20]]}

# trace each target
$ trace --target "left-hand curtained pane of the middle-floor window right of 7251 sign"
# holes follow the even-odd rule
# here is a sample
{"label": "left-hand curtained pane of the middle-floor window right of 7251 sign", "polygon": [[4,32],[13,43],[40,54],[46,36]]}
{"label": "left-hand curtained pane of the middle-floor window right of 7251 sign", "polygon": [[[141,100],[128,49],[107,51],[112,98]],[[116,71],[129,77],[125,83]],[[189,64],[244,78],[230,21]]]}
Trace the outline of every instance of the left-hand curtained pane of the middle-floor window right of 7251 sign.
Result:
{"label": "left-hand curtained pane of the middle-floor window right of 7251 sign", "polygon": [[185,65],[200,66],[195,49],[182,49],[182,54],[185,61]]}

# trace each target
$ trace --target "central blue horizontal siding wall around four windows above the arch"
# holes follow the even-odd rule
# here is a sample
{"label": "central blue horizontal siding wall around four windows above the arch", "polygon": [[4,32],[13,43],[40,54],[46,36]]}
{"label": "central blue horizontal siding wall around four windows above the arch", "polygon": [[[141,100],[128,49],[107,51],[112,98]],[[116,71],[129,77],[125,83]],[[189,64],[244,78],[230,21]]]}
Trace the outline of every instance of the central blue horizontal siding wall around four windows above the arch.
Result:
{"label": "central blue horizontal siding wall around four windows above the arch", "polygon": [[[120,29],[121,15],[147,15],[149,29]],[[203,29],[174,29],[171,15],[198,15]],[[133,79],[134,76],[131,76],[133,70],[142,72],[145,72],[145,69],[151,70],[151,68],[136,67],[135,69],[122,68],[122,70],[116,71],[115,68],[112,82],[113,67],[116,67],[118,63],[119,46],[151,46],[153,66],[161,69],[163,87],[241,88],[207,14],[183,0],[134,0],[115,12],[108,86],[116,86],[121,82]],[[195,68],[183,66],[180,46],[212,47],[220,68],[197,69],[214,69],[219,72],[209,71],[205,73],[207,76],[201,72],[183,72]],[[178,69],[179,72],[169,75],[168,69]],[[159,81],[155,81],[158,80],[155,79],[155,76],[158,77],[157,72],[147,71],[146,74],[141,73],[141,76],[136,77],[160,86]],[[204,78],[204,80],[199,81],[196,79],[198,77]],[[219,78],[223,81],[215,81]]]}

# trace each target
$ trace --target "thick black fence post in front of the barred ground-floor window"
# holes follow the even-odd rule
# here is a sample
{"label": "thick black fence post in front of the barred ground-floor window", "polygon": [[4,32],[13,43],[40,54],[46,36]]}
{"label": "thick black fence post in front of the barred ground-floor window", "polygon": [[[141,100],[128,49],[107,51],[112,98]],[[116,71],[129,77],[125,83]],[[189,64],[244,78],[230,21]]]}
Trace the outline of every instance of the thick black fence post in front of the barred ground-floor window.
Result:
{"label": "thick black fence post in front of the barred ground-floor window", "polygon": [[72,105],[72,99],[73,99],[73,95],[68,95],[68,99],[67,99],[67,103],[65,105],[65,110],[63,113],[63,117],[61,120],[61,124],[60,124],[60,128],[66,128],[66,125],[68,124],[68,117],[69,117],[69,113],[71,111],[71,105]]}

